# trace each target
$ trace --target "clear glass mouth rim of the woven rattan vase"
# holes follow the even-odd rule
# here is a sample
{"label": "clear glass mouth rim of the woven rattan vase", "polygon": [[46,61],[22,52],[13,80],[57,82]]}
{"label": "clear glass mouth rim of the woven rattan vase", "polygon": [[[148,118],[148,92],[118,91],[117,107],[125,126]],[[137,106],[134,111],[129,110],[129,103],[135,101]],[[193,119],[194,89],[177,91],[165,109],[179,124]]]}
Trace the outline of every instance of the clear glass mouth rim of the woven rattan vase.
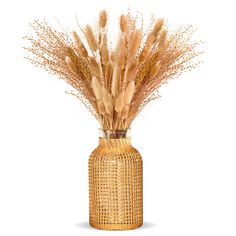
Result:
{"label": "clear glass mouth rim of the woven rattan vase", "polygon": [[130,128],[128,129],[99,129],[100,138],[104,139],[121,139],[130,138]]}

